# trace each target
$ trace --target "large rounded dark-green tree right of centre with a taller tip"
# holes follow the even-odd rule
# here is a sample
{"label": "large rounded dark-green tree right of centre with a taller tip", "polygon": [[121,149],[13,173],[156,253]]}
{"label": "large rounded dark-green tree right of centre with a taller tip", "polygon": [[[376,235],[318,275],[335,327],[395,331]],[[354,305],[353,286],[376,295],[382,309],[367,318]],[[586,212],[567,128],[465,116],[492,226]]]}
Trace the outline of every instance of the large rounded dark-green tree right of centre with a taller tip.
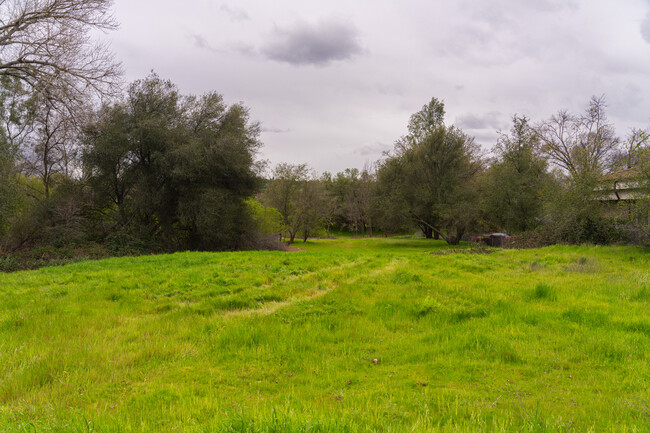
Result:
{"label": "large rounded dark-green tree right of centre with a taller tip", "polygon": [[429,119],[429,126],[409,126],[409,135],[382,162],[378,188],[385,194],[384,201],[394,200],[405,209],[426,237],[435,233],[458,244],[479,219],[477,181],[482,161],[473,138],[442,125],[443,104],[435,98],[431,104],[412,118]]}

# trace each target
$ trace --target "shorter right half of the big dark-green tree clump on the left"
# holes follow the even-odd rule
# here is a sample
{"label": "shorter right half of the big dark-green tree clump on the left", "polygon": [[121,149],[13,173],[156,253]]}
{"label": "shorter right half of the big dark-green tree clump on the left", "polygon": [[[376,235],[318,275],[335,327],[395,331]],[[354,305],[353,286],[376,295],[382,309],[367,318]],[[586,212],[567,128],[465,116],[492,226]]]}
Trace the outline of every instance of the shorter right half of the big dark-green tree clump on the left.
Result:
{"label": "shorter right half of the big dark-green tree clump on the left", "polygon": [[[182,144],[168,150],[174,168],[161,212],[178,212],[192,248],[240,249],[254,235],[246,200],[261,185],[255,163],[259,124],[249,120],[246,107],[227,107],[216,93],[190,106],[182,117],[189,119],[189,131],[181,128]],[[168,208],[170,201],[177,210]],[[170,222],[175,230],[175,217]]]}

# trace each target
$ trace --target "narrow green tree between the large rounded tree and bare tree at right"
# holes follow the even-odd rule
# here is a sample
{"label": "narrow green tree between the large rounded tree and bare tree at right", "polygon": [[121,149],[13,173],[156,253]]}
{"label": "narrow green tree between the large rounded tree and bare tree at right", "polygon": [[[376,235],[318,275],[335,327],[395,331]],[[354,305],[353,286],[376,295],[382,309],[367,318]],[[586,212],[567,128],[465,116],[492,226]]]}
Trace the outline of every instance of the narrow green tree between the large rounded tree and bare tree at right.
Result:
{"label": "narrow green tree between the large rounded tree and bare tree at right", "polygon": [[489,220],[508,232],[522,232],[539,223],[548,164],[528,119],[515,115],[512,123],[510,133],[497,139],[497,159],[486,173],[484,198]]}

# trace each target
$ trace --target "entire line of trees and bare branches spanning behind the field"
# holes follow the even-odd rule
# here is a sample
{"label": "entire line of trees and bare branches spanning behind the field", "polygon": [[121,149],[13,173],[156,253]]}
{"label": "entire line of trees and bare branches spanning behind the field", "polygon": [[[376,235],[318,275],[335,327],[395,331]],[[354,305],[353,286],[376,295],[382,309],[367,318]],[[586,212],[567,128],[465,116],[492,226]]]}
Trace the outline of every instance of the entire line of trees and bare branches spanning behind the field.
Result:
{"label": "entire line of trees and bare branches spanning behind the field", "polygon": [[[279,248],[333,230],[417,231],[449,244],[486,231],[519,234],[521,245],[647,242],[648,131],[619,138],[603,97],[582,113],[513,116],[491,154],[445,124],[432,98],[393,150],[361,170],[268,170],[260,126],[243,104],[184,95],[155,73],[121,85],[119,63],[89,38],[115,28],[110,5],[0,3],[5,255]],[[642,188],[616,210],[597,196],[602,175],[624,168]]]}

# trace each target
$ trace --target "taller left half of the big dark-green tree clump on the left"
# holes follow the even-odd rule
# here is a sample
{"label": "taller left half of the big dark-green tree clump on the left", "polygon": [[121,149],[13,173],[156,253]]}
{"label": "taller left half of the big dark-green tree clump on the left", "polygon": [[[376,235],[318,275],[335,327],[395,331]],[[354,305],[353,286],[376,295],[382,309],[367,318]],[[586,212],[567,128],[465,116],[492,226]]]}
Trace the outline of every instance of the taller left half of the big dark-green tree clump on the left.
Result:
{"label": "taller left half of the big dark-green tree clump on the left", "polygon": [[117,205],[118,221],[170,246],[181,242],[173,234],[179,195],[172,184],[185,122],[180,98],[170,81],[152,74],[130,85],[124,103],[97,113],[84,137],[84,170],[95,197]]}

